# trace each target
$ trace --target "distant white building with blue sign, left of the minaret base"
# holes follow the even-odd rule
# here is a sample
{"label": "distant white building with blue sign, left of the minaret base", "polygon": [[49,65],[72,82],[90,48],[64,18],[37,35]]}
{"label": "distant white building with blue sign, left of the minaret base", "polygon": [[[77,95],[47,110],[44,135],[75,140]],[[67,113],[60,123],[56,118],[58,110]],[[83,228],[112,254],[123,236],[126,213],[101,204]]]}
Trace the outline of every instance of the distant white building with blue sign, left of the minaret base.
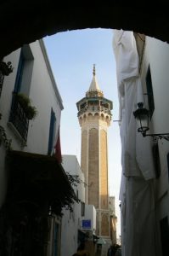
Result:
{"label": "distant white building with blue sign, left of the minaret base", "polygon": [[[60,255],[71,256],[76,253],[80,242],[92,240],[96,230],[96,210],[92,205],[85,204],[85,188],[87,183],[75,155],[62,155],[62,165],[67,175],[73,177],[77,182],[73,185],[75,194],[80,200],[75,203],[73,212],[64,209],[61,229],[61,251]],[[79,183],[78,183],[79,182]]]}

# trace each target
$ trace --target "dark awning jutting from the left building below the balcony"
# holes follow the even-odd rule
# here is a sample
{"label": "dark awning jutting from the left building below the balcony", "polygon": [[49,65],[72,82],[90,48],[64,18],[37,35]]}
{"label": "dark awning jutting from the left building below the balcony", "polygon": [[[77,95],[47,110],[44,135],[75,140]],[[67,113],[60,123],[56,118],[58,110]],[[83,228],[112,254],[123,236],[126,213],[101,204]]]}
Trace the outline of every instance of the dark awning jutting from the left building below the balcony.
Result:
{"label": "dark awning jutting from the left building below the balcony", "polygon": [[56,214],[76,197],[65,170],[54,156],[10,151],[8,200],[52,205]]}

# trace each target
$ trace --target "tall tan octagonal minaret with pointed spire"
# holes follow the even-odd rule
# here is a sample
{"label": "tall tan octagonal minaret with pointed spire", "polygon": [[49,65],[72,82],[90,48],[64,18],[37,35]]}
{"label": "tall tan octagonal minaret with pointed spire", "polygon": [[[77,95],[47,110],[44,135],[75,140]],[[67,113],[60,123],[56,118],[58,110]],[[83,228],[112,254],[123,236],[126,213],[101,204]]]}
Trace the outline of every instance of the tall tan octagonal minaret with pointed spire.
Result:
{"label": "tall tan octagonal minaret with pointed spire", "polygon": [[108,188],[107,128],[110,126],[112,102],[104,98],[96,79],[86,96],[76,103],[82,127],[81,167],[86,179],[86,203],[97,210],[96,234],[110,237]]}

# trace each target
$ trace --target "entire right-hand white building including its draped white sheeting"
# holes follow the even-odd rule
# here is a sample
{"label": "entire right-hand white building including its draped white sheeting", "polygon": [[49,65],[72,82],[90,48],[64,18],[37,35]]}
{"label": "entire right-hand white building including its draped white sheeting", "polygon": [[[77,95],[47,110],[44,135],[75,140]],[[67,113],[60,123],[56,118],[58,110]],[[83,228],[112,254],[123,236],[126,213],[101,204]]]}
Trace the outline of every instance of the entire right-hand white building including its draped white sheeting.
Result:
{"label": "entire right-hand white building including its draped white sheeting", "polygon": [[169,239],[169,143],[143,137],[133,112],[143,102],[150,117],[146,134],[168,132],[169,46],[155,38],[135,37],[115,30],[113,39],[121,119],[122,255],[162,256]]}

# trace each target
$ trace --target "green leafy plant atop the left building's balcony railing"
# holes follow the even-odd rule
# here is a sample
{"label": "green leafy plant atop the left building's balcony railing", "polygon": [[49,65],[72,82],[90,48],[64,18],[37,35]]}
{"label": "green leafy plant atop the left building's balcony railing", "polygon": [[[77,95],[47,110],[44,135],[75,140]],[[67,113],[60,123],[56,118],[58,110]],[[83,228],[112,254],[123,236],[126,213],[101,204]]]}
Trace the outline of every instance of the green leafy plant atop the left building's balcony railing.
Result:
{"label": "green leafy plant atop the left building's balcony railing", "polygon": [[34,106],[31,106],[31,100],[28,96],[25,96],[25,94],[18,93],[17,94],[17,100],[20,102],[20,105],[22,108],[24,108],[26,117],[28,119],[34,119],[37,116],[37,108]]}

